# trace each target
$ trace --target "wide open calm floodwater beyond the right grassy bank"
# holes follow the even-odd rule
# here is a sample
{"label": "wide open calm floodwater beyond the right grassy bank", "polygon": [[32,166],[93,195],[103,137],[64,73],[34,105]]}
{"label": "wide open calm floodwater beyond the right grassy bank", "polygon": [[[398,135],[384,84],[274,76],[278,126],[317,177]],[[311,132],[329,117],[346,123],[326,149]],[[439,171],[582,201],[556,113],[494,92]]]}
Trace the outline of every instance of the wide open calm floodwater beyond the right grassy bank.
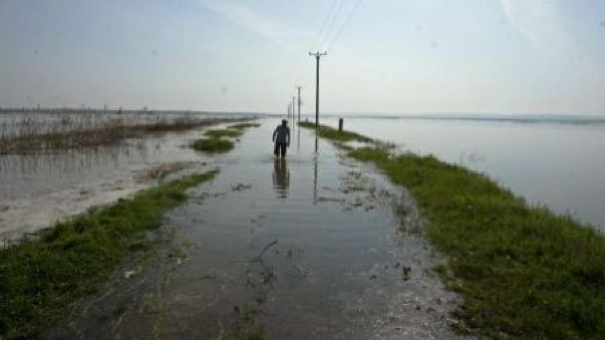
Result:
{"label": "wide open calm floodwater beyond the right grassy bank", "polygon": [[[604,232],[605,120],[535,117],[540,119],[345,117],[344,125],[485,172],[529,202],[569,212]],[[322,122],[338,125],[335,117]]]}

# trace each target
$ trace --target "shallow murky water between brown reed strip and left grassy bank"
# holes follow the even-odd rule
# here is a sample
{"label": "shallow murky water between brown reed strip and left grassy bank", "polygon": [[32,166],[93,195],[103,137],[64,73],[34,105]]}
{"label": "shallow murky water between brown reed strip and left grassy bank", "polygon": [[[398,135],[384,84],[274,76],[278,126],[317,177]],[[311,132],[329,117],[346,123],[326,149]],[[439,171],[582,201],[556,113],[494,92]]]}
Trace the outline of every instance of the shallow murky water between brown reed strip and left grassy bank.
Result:
{"label": "shallow murky water between brown reed strip and left grassy bank", "polygon": [[0,238],[47,227],[149,185],[137,174],[171,162],[203,163],[187,148],[200,132],[127,140],[118,146],[0,155]]}

